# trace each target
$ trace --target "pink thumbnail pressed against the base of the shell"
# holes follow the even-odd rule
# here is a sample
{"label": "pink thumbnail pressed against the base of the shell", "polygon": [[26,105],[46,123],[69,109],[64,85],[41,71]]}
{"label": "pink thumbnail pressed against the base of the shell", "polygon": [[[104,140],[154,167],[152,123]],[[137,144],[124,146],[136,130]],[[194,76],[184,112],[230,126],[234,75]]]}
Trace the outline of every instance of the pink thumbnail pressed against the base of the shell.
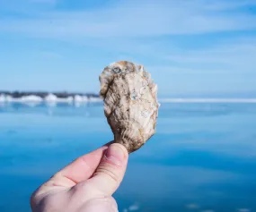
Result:
{"label": "pink thumbnail pressed against the base of the shell", "polygon": [[122,165],[125,157],[120,144],[111,144],[105,153],[105,159],[114,165]]}

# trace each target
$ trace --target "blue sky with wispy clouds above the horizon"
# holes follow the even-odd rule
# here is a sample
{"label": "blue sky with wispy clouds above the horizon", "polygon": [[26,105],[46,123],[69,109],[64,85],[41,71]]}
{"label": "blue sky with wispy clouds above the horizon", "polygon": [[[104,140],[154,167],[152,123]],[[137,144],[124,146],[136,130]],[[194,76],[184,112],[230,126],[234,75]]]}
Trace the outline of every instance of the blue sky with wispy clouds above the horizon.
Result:
{"label": "blue sky with wispy clouds above the horizon", "polygon": [[119,60],[164,96],[256,94],[256,1],[0,0],[0,89],[98,92]]}

